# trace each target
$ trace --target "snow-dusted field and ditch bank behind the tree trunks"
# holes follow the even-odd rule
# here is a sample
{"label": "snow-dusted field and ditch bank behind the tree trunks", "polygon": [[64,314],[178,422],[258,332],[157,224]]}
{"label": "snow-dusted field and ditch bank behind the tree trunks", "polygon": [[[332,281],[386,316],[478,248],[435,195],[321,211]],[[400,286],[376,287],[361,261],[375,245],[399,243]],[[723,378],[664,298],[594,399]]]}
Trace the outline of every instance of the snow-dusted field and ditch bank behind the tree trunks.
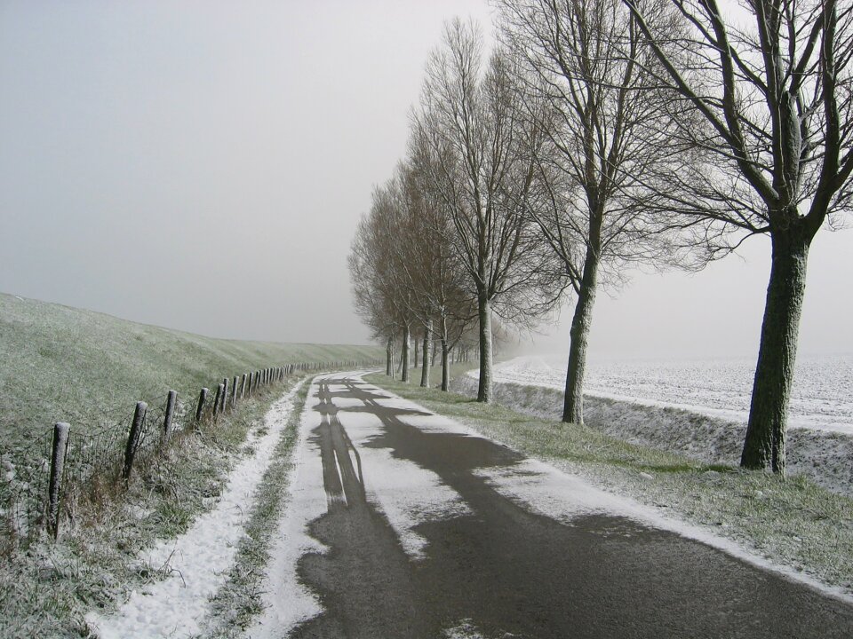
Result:
{"label": "snow-dusted field and ditch bank behind the tree trunks", "polygon": [[[523,357],[499,364],[494,373],[496,399],[522,412],[559,418],[565,371],[558,362],[562,360]],[[738,362],[707,366],[630,362],[593,367],[586,389],[585,421],[634,444],[712,463],[737,464],[749,407],[743,389],[748,393],[750,388],[744,379],[746,365]],[[804,370],[811,375],[803,375]],[[801,377],[792,400],[794,428],[788,431],[788,469],[835,493],[853,495],[853,358],[810,363],[807,358],[797,374]],[[476,389],[477,372],[468,375],[457,384],[458,390],[470,393]],[[729,391],[731,399],[726,403]],[[817,398],[809,398],[809,392]],[[809,406],[818,406],[817,412],[803,413]]]}

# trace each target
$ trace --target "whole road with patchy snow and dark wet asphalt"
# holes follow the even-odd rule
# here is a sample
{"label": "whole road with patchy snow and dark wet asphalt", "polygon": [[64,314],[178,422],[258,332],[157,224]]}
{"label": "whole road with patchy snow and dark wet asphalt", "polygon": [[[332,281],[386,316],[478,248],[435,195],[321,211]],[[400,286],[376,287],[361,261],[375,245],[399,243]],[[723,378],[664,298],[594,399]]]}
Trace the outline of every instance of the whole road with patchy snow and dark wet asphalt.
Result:
{"label": "whole road with patchy snow and dark wet asphalt", "polygon": [[364,383],[315,379],[247,636],[822,636],[853,605]]}

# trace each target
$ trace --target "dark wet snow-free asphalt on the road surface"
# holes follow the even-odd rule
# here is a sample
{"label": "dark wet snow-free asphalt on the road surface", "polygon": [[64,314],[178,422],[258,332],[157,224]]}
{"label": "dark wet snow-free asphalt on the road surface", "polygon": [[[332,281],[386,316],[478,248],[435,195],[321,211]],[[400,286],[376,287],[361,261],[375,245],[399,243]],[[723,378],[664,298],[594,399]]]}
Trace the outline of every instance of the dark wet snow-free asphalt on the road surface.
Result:
{"label": "dark wet snow-free asphalt on the road surface", "polygon": [[[288,636],[853,637],[850,604],[698,541],[606,512],[561,523],[507,499],[473,471],[522,455],[416,428],[407,420],[423,413],[371,388],[328,376],[308,397],[303,428],[323,477],[307,480],[323,482],[328,504],[308,532],[328,551],[302,556],[297,574],[324,610]],[[347,413],[381,428],[355,446]],[[434,473],[465,502],[467,514],[417,525],[425,556],[406,553],[371,493],[381,469],[363,464],[368,447]]]}

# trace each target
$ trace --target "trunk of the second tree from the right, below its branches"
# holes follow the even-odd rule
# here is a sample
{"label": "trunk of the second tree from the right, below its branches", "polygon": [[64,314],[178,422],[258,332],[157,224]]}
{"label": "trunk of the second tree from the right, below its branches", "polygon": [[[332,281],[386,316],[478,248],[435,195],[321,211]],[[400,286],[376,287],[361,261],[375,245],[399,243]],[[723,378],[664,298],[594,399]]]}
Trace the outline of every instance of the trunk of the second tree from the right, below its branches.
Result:
{"label": "trunk of the second tree from the right, below its branches", "polygon": [[562,404],[563,422],[584,423],[586,344],[589,340],[589,327],[593,321],[593,306],[598,288],[598,262],[598,254],[594,248],[587,247],[578,302],[571,318],[569,368],[566,371],[566,394]]}

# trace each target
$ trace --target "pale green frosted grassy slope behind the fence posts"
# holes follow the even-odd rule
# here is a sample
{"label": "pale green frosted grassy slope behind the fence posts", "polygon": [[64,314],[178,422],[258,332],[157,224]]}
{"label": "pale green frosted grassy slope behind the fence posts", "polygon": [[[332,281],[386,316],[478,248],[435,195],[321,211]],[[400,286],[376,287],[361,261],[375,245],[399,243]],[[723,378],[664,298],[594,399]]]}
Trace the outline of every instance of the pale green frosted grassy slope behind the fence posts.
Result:
{"label": "pale green frosted grassy slope behind the fence posts", "polygon": [[98,312],[0,294],[0,451],[53,422],[85,429],[104,409],[297,361],[382,357],[371,346],[245,342],[146,326]]}

